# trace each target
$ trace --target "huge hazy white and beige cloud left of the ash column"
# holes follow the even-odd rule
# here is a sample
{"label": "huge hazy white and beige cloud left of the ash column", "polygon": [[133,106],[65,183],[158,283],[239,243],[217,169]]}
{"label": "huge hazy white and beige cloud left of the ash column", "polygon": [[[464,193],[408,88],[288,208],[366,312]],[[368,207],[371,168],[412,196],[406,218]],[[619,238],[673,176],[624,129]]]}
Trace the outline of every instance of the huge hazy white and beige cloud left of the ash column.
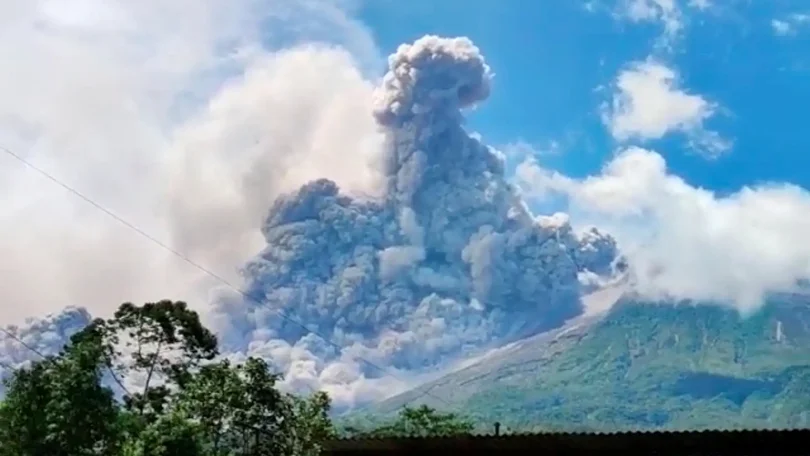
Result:
{"label": "huge hazy white and beige cloud left of the ash column", "polygon": [[[370,84],[346,51],[262,49],[317,39],[370,66],[379,56],[351,6],[2,1],[0,58],[14,71],[0,74],[0,144],[235,278],[254,253],[248,210],[313,173],[346,181],[374,147]],[[0,323],[205,300],[199,271],[0,155]]]}

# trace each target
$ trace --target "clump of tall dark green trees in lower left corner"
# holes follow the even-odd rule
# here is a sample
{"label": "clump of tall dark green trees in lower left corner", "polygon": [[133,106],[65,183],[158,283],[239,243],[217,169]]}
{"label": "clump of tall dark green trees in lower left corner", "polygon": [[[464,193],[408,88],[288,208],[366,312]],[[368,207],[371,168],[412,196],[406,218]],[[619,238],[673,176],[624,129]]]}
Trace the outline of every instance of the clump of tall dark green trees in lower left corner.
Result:
{"label": "clump of tall dark green trees in lower left corner", "polygon": [[[315,456],[334,435],[328,396],[283,394],[265,361],[216,354],[184,303],[126,303],[8,379],[0,456]],[[123,403],[102,386],[135,372],[145,386]]]}

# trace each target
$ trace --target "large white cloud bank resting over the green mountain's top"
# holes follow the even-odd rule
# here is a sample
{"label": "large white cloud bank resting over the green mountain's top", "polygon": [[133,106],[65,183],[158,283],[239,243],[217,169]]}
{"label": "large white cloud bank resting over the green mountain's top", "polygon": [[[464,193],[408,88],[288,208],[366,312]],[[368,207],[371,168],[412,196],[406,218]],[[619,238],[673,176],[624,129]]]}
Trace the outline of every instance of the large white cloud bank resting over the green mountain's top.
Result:
{"label": "large white cloud bank resting over the green mountain's top", "polygon": [[567,196],[572,222],[614,235],[648,296],[715,300],[747,312],[765,293],[810,279],[810,192],[802,188],[761,185],[720,196],[637,147],[598,175],[573,179],[529,160],[517,179],[530,197]]}

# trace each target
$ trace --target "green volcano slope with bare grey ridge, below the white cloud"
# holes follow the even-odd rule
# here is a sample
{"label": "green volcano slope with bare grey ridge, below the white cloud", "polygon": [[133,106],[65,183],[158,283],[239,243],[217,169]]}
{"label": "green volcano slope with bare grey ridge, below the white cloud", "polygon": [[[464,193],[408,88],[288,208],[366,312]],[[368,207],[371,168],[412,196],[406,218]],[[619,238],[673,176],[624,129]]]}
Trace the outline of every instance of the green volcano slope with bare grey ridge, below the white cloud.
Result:
{"label": "green volcano slope with bare grey ridge, below the white cloud", "polygon": [[717,306],[623,301],[366,413],[446,401],[521,430],[808,426],[809,303],[775,296],[742,318]]}

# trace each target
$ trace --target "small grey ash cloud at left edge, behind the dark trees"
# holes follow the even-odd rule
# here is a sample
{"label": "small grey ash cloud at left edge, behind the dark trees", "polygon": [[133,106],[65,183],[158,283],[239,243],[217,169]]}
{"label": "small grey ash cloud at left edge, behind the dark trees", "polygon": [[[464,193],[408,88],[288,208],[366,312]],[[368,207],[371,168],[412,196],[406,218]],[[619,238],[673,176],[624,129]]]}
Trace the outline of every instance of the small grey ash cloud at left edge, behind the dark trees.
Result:
{"label": "small grey ash cloud at left edge, behind the dark trees", "polygon": [[[6,378],[10,368],[23,367],[40,359],[37,352],[46,356],[58,353],[70,336],[91,321],[86,310],[68,307],[58,314],[29,318],[22,325],[6,327],[0,331],[0,378]],[[0,392],[3,388],[0,384]]]}

